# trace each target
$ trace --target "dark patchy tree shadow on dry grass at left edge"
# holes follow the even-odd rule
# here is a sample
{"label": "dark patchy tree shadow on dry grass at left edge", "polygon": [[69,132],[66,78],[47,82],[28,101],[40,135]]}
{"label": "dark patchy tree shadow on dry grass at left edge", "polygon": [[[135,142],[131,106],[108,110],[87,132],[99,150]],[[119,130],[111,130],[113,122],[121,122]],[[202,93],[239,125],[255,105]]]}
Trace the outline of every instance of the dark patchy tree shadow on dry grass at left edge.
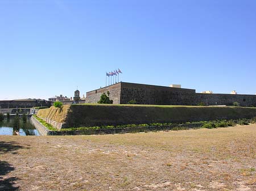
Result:
{"label": "dark patchy tree shadow on dry grass at left edge", "polygon": [[[0,141],[0,155],[6,152],[13,152],[23,148],[22,146],[16,145],[16,142],[5,142]],[[13,152],[13,154],[16,154]],[[14,187],[15,182],[18,180],[16,177],[3,177],[9,172],[14,171],[14,167],[6,161],[0,161],[0,191],[3,190],[18,190],[19,187]]]}

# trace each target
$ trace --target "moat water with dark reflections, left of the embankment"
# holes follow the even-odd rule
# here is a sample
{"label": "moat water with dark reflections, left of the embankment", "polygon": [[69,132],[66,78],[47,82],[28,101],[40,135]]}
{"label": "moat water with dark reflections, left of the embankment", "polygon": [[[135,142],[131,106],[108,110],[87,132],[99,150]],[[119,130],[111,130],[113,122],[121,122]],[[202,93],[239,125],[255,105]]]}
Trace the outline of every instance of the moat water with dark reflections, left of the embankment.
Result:
{"label": "moat water with dark reflections, left of the embankment", "polygon": [[19,128],[14,128],[14,119],[0,122],[0,135],[40,135],[35,126],[28,119],[27,122],[20,120]]}

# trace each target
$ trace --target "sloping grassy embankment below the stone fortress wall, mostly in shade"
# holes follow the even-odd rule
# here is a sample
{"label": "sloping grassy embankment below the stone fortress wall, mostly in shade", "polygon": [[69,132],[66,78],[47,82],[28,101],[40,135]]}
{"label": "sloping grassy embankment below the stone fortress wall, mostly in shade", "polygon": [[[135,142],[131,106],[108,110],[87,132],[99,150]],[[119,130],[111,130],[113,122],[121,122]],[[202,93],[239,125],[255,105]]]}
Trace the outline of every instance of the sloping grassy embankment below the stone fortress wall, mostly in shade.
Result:
{"label": "sloping grassy embankment below the stone fortress wall, mostly in shade", "polygon": [[[221,120],[205,126],[215,128],[233,126],[233,120],[240,118],[253,118],[256,116],[256,108],[75,104],[63,105],[62,109],[41,109],[38,116],[43,120],[50,118],[51,121],[67,123],[68,128],[61,130],[132,128]],[[54,129],[53,126],[51,129]]]}

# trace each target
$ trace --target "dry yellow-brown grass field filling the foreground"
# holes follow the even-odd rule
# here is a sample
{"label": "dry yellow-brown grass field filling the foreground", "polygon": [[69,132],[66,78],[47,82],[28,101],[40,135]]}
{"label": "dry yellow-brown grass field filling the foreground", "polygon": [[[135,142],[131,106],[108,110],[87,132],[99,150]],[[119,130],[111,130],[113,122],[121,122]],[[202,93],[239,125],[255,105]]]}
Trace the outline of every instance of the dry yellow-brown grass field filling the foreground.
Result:
{"label": "dry yellow-brown grass field filling the foreground", "polygon": [[256,190],[256,125],[0,136],[0,190]]}

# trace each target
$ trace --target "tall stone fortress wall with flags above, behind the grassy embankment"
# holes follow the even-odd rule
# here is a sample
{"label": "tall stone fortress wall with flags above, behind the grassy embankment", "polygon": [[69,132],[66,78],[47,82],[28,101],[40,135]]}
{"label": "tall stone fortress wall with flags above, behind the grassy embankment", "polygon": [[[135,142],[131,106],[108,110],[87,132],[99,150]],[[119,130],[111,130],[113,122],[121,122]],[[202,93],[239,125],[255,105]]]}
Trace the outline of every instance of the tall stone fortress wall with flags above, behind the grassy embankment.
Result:
{"label": "tall stone fortress wall with flags above, behind the grassy embankment", "polygon": [[85,103],[97,103],[101,94],[108,91],[114,104],[127,104],[130,100],[136,100],[137,104],[152,105],[232,105],[237,101],[241,106],[256,107],[256,95],[200,94],[193,89],[126,82],[87,92]]}

